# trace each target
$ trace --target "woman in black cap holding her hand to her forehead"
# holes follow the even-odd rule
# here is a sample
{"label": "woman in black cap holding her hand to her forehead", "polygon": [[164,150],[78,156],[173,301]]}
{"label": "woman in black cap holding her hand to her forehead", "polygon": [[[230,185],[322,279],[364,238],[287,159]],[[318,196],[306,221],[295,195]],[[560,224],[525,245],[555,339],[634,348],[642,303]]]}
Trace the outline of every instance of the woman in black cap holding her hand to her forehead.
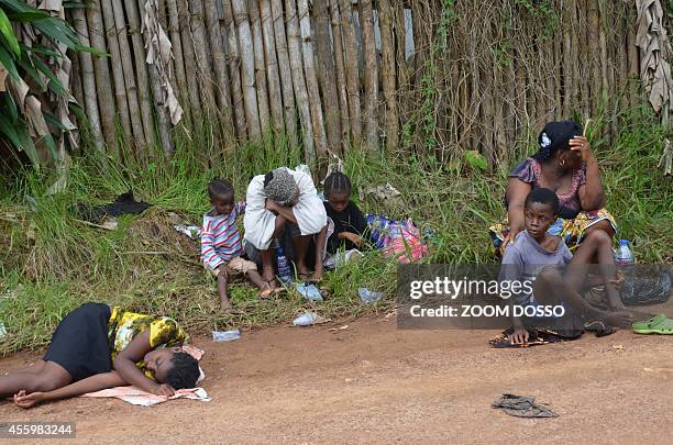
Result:
{"label": "woman in black cap holding her hand to her forehead", "polygon": [[523,202],[539,187],[551,189],[559,197],[560,219],[550,232],[560,235],[571,251],[592,231],[604,231],[611,237],[617,230],[613,215],[603,209],[606,197],[598,164],[582,127],[572,121],[550,122],[538,136],[538,153],[509,174],[505,193],[507,219],[489,227],[497,256],[525,229]]}

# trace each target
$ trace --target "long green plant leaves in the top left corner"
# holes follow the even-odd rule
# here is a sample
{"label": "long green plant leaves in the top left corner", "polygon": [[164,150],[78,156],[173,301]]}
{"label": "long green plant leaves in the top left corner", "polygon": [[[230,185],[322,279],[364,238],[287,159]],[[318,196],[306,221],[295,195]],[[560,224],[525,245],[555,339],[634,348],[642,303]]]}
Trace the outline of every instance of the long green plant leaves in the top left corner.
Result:
{"label": "long green plant leaves in the top left corner", "polygon": [[[82,5],[66,2],[65,7]],[[24,37],[15,33],[19,25],[25,30]],[[75,30],[63,19],[51,16],[25,1],[0,0],[0,68],[9,74],[9,78],[0,80],[0,135],[15,155],[24,152],[35,168],[41,164],[41,146],[47,148],[54,162],[58,160],[55,135],[69,131],[46,105],[49,93],[66,103],[69,96],[67,86],[57,77],[57,65],[65,57],[59,45],[100,54],[82,46]],[[20,93],[22,90],[23,94]],[[82,115],[76,105],[73,105],[73,111]]]}

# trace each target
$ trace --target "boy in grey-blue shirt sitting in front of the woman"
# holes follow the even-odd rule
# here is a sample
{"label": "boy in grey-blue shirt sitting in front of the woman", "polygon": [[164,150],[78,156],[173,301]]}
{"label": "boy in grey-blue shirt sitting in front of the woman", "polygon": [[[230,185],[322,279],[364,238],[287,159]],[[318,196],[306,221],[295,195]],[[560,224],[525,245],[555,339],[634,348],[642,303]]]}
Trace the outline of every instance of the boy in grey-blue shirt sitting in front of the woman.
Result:
{"label": "boy in grey-blue shirt sitting in front of the woman", "polygon": [[[532,293],[520,292],[511,298],[512,304],[539,305],[563,304],[565,314],[552,323],[561,331],[577,329],[576,318],[599,320],[609,326],[624,325],[631,320],[631,314],[624,311],[619,299],[620,277],[616,274],[611,238],[603,231],[591,231],[586,234],[573,256],[563,238],[548,233],[556,220],[559,198],[545,188],[533,189],[526,198],[523,208],[526,230],[520,232],[515,242],[507,247],[503,257],[500,281],[532,281]],[[603,311],[582,298],[577,292],[587,286],[587,265],[597,258],[600,281],[605,285],[609,300],[609,311]],[[564,276],[560,268],[567,267]],[[545,267],[547,266],[547,267]],[[549,267],[552,266],[552,267]],[[534,297],[533,297],[534,296]],[[567,304],[565,304],[567,303]],[[512,316],[514,332],[508,336],[511,344],[526,343],[529,338],[527,329],[534,327],[540,320]],[[549,321],[549,320],[548,320]]]}

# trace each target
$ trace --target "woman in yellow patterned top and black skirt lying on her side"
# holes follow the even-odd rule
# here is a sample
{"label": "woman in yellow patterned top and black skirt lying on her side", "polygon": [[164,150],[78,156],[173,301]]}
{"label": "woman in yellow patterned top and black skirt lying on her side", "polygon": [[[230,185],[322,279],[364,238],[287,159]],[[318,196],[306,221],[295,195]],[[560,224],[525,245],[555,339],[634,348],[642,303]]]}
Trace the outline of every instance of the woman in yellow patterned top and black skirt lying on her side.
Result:
{"label": "woman in yellow patterned top and black skirt lying on her side", "polygon": [[42,359],[0,377],[0,397],[31,408],[128,385],[170,397],[200,375],[179,347],[187,338],[169,318],[86,303],[60,321]]}

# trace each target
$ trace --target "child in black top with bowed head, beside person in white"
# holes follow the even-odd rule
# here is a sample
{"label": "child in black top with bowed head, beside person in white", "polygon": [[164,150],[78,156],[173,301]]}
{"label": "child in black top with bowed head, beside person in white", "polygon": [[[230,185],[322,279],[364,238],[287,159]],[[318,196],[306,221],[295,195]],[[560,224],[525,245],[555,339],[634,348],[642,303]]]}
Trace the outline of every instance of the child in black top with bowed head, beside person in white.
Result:
{"label": "child in black top with bowed head, beside person in white", "polygon": [[351,201],[351,180],[340,171],[324,179],[324,210],[334,222],[334,233],[328,238],[330,254],[341,247],[345,251],[362,248],[368,241],[367,222],[357,205]]}

